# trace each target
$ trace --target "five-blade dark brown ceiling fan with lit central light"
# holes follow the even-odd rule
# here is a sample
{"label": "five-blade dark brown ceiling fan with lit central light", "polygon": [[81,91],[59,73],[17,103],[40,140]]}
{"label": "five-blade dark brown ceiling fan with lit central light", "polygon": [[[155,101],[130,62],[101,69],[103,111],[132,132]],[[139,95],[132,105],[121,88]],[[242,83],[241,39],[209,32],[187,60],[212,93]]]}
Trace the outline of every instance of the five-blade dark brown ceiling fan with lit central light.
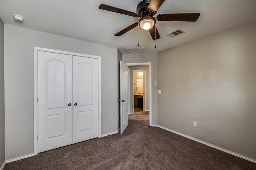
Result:
{"label": "five-blade dark brown ceiling fan with lit central light", "polygon": [[133,23],[132,25],[126,27],[122,31],[116,33],[116,36],[123,35],[124,33],[130,31],[136,26],[140,25],[142,29],[148,30],[153,40],[159,39],[160,35],[156,29],[156,20],[158,21],[196,21],[200,13],[183,13],[183,14],[159,14],[156,18],[154,15],[156,14],[158,8],[162,5],[164,0],[142,0],[137,6],[137,12],[132,12],[128,10],[124,10],[121,8],[116,8],[114,6],[109,6],[106,4],[101,4],[100,9],[107,10],[111,12],[116,12],[128,16],[140,17],[141,19]]}

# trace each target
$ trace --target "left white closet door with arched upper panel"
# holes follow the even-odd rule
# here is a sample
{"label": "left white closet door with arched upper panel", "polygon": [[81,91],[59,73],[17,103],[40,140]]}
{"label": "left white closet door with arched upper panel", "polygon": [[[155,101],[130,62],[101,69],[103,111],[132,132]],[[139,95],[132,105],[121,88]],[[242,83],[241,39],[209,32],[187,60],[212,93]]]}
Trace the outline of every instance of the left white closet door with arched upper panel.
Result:
{"label": "left white closet door with arched upper panel", "polygon": [[70,144],[72,56],[38,51],[38,152]]}

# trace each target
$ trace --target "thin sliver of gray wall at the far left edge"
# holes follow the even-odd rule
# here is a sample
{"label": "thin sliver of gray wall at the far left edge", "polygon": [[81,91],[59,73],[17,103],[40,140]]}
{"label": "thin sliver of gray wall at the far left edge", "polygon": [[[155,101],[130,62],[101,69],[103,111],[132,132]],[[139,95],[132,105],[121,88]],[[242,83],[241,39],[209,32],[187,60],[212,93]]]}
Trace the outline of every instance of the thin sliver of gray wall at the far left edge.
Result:
{"label": "thin sliver of gray wall at the far left edge", "polygon": [[4,23],[0,18],[0,167],[4,161]]}

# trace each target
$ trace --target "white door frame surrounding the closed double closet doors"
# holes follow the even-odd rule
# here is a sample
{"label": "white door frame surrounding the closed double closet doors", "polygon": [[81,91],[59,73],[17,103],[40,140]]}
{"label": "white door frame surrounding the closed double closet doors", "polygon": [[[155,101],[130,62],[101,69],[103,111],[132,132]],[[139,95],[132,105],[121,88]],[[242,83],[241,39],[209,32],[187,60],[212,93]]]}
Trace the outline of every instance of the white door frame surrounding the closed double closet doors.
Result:
{"label": "white door frame surrounding the closed double closet doors", "polygon": [[[38,154],[38,51],[44,51],[49,53],[59,53],[59,54],[66,54],[66,55],[76,55],[80,57],[88,57],[88,58],[94,58],[99,60],[99,71],[98,71],[98,102],[99,102],[99,133],[98,137],[101,137],[101,57],[100,56],[94,56],[94,55],[86,55],[81,53],[73,53],[68,51],[60,51],[60,50],[54,50],[54,49],[46,49],[41,47],[34,47],[34,155]],[[39,99],[40,100],[40,99]]]}

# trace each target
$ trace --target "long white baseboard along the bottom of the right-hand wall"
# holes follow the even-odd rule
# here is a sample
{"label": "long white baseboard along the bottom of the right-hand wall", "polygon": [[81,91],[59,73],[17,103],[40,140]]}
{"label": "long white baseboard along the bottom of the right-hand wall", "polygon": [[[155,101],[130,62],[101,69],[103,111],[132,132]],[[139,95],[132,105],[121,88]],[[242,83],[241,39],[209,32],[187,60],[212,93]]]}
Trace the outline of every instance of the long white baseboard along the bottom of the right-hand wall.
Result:
{"label": "long white baseboard along the bottom of the right-hand wall", "polygon": [[209,147],[212,147],[212,148],[215,148],[215,149],[221,150],[221,151],[223,151],[223,152],[226,152],[226,153],[232,154],[232,155],[237,156],[237,157],[239,157],[239,158],[242,158],[242,159],[248,160],[248,161],[250,161],[250,162],[254,162],[254,163],[256,163],[256,160],[254,160],[254,159],[252,159],[252,158],[249,158],[249,157],[247,157],[247,156],[244,156],[244,155],[241,155],[241,154],[238,154],[238,153],[232,152],[232,151],[230,151],[230,150],[227,150],[227,149],[224,149],[224,148],[221,148],[221,147],[217,147],[217,146],[212,145],[212,144],[210,144],[210,143],[207,143],[207,142],[201,141],[201,140],[199,140],[199,139],[196,139],[196,138],[190,137],[190,136],[188,136],[188,135],[184,135],[184,134],[182,134],[182,133],[179,133],[179,132],[173,131],[173,130],[168,129],[168,128],[166,128],[166,127],[162,127],[162,126],[160,126],[160,125],[157,125],[157,127],[160,127],[161,129],[164,129],[164,130],[166,130],[166,131],[170,131],[170,132],[175,133],[175,134],[177,134],[177,135],[180,135],[180,136],[186,137],[186,138],[191,139],[191,140],[193,140],[193,141],[196,141],[196,142],[202,143],[202,144],[207,145],[207,146],[209,146]]}

